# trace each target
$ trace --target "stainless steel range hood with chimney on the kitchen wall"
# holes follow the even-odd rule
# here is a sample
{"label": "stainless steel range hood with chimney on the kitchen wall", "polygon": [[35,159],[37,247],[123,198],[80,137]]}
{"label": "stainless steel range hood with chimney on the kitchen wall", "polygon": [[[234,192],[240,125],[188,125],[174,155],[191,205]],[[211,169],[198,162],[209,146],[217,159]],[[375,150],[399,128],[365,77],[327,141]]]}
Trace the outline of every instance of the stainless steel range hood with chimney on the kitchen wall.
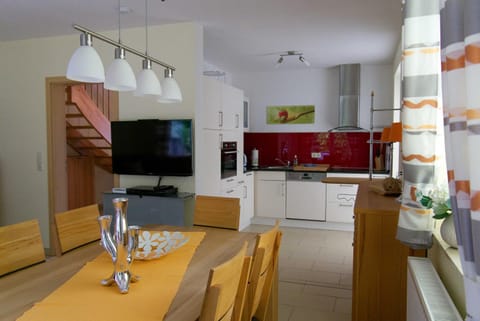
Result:
{"label": "stainless steel range hood with chimney on the kitchen wall", "polygon": [[362,130],[358,126],[360,110],[360,64],[340,65],[338,126],[330,131]]}

